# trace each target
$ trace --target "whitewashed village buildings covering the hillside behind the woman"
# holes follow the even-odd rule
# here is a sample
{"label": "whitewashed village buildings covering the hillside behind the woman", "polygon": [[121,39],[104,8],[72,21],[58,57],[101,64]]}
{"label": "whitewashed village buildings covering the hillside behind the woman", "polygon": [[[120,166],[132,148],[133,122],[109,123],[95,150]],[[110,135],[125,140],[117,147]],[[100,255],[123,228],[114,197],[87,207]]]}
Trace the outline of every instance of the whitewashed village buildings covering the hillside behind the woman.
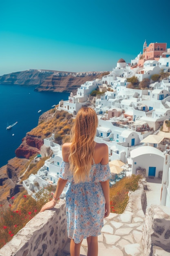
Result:
{"label": "whitewashed village buildings covering the hillside behind the woman", "polygon": [[[128,79],[139,82],[152,75],[170,70],[170,49],[166,43],[144,42],[143,52],[131,63],[121,58],[117,66],[101,80],[87,81],[70,93],[67,101],[60,101],[58,110],[76,115],[82,106],[94,108],[99,119],[95,141],[106,143],[109,162],[122,162],[119,175],[113,173],[110,186],[121,177],[143,173],[146,177],[162,178],[161,205],[170,207],[170,76],[150,83],[146,89],[129,88]],[[98,90],[96,97],[91,92]],[[163,128],[162,128],[163,127]],[[44,139],[44,146],[53,151],[37,174],[23,181],[27,192],[34,196],[41,186],[56,184],[62,162],[61,146],[54,142],[54,134]],[[43,156],[43,150],[41,151]],[[36,157],[38,161],[39,157]],[[66,188],[61,198],[65,197]]]}

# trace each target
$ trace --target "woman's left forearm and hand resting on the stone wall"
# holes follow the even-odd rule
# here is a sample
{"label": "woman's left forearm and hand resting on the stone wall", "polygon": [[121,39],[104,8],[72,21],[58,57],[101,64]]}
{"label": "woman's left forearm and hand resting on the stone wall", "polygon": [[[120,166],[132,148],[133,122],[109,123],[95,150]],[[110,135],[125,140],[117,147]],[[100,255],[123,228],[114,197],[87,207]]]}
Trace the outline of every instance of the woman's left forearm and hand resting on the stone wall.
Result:
{"label": "woman's left forearm and hand resting on the stone wall", "polygon": [[[60,198],[60,195],[64,189],[64,187],[66,186],[66,183],[67,183],[67,180],[63,180],[61,178],[58,179],[58,182],[57,182],[57,188],[55,190],[55,194],[54,194],[54,197],[56,198],[56,200],[58,198]],[[53,202],[53,200],[47,202],[46,204],[44,204],[44,206],[41,208],[40,212],[42,211],[45,211],[47,209],[51,209],[55,206],[55,202]]]}

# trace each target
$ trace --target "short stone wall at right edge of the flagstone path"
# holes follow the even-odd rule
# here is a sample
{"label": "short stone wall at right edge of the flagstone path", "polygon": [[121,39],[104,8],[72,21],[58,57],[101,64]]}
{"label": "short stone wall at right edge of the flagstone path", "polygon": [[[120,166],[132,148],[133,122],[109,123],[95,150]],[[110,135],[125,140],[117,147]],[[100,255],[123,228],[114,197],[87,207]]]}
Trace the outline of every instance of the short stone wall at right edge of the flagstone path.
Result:
{"label": "short stone wall at right edge of the flagstone path", "polygon": [[170,255],[170,208],[151,205],[146,211],[142,244],[145,256]]}

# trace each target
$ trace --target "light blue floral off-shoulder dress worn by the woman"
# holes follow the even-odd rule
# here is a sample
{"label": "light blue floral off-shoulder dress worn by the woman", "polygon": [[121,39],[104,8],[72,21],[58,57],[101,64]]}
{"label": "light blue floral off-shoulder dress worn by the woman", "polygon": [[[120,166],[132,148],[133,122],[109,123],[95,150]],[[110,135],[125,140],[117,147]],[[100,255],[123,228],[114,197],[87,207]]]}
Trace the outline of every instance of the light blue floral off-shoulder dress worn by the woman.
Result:
{"label": "light blue floral off-shoulder dress worn by the woman", "polygon": [[105,198],[100,181],[110,178],[110,168],[108,164],[94,162],[88,182],[75,184],[69,167],[68,162],[62,161],[59,177],[69,182],[66,192],[68,237],[79,243],[83,238],[101,234]]}

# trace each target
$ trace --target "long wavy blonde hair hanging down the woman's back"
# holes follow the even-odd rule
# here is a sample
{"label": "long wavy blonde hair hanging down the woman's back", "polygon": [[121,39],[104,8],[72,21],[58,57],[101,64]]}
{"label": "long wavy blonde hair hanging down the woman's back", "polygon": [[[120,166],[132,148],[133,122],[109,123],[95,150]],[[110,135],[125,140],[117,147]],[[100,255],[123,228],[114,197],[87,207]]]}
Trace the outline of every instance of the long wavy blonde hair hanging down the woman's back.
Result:
{"label": "long wavy blonde hair hanging down the woman's back", "polygon": [[71,148],[68,157],[75,183],[84,182],[93,162],[98,118],[95,110],[82,107],[71,130]]}

